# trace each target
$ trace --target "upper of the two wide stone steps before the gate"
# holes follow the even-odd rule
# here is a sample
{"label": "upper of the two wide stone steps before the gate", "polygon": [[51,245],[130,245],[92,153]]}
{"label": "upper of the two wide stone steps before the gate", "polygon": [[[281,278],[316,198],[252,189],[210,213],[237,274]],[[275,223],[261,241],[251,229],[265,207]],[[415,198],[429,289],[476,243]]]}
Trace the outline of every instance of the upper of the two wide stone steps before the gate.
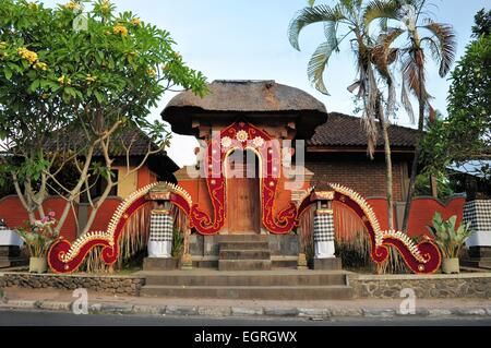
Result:
{"label": "upper of the two wide stone steps before the gate", "polygon": [[345,286],[346,274],[264,274],[242,275],[147,275],[146,285],[160,286]]}

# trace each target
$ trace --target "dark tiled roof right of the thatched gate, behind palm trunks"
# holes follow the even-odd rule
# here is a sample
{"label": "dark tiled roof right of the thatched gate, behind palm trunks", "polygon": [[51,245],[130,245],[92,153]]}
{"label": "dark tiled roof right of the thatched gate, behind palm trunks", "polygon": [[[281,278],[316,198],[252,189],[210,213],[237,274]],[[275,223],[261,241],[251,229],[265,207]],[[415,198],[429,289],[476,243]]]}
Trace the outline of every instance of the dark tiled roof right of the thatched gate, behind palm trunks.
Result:
{"label": "dark tiled roof right of the thatched gate, behind palm trunks", "polygon": [[[388,129],[391,145],[414,148],[417,130],[392,124]],[[382,132],[378,146],[383,146]],[[367,134],[361,118],[331,112],[327,122],[319,125],[310,141],[310,146],[367,146]]]}

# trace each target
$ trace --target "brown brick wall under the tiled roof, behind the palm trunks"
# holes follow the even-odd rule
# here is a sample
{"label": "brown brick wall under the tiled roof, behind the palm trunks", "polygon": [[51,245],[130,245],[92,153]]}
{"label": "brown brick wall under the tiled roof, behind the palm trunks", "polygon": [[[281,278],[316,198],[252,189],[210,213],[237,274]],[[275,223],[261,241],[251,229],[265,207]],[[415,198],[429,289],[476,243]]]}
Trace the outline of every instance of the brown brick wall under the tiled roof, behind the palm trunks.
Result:
{"label": "brown brick wall under the tiled roof, behind the palm trunks", "polygon": [[[393,158],[395,201],[403,201],[404,197],[403,170],[405,168],[403,167],[406,166],[405,159]],[[385,161],[380,155],[374,160],[370,160],[363,154],[308,154],[306,167],[314,173],[311,184],[322,187],[326,182],[335,182],[349,187],[366,197],[386,195]]]}

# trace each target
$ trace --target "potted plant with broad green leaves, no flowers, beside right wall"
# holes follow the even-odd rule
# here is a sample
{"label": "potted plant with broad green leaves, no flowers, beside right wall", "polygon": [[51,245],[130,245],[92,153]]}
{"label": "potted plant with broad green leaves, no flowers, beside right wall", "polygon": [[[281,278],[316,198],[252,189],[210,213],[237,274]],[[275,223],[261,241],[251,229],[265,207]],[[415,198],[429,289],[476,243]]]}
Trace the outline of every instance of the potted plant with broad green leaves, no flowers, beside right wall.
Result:
{"label": "potted plant with broad green leaves, no flowers, beside right wall", "polygon": [[439,245],[442,253],[442,272],[446,274],[459,272],[458,255],[462,247],[471,233],[470,223],[463,223],[456,229],[456,215],[444,220],[442,215],[436,213],[433,216],[433,226],[428,227],[431,233],[433,233],[434,242]]}

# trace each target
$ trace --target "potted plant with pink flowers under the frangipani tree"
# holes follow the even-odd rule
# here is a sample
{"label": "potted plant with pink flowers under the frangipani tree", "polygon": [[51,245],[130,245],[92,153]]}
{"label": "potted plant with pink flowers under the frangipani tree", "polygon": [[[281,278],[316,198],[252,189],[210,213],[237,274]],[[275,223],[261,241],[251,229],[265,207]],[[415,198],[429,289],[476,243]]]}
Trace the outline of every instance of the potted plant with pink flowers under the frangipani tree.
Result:
{"label": "potted plant with pink flowers under the frangipani tree", "polygon": [[34,221],[26,228],[19,229],[29,252],[29,272],[45,273],[48,271],[47,254],[58,236],[53,232],[56,224],[55,212],[50,212],[43,219]]}

